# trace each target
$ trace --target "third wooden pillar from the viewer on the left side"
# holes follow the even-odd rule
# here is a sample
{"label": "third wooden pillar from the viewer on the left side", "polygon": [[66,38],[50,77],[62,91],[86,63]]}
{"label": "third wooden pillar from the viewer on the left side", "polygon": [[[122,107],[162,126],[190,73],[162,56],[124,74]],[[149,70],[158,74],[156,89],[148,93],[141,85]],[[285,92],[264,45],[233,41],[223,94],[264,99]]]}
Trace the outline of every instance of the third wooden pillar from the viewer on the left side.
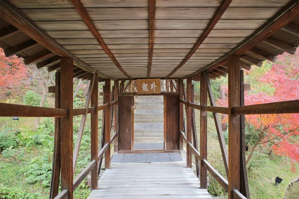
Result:
{"label": "third wooden pillar from the viewer on the left side", "polygon": [[110,103],[111,103],[111,80],[105,80],[105,103],[109,103],[108,108],[105,110],[105,142],[109,144],[109,147],[105,153],[105,169],[110,169],[110,158],[111,158],[111,149],[110,149]]}

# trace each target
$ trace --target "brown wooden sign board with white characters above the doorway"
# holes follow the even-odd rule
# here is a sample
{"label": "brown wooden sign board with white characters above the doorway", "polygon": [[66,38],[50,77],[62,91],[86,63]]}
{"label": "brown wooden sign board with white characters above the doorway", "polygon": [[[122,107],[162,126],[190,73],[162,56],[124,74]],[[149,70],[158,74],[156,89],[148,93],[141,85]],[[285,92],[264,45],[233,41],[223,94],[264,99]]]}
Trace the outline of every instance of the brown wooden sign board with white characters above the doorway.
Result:
{"label": "brown wooden sign board with white characters above the doorway", "polygon": [[138,79],[137,94],[159,94],[161,93],[160,79]]}

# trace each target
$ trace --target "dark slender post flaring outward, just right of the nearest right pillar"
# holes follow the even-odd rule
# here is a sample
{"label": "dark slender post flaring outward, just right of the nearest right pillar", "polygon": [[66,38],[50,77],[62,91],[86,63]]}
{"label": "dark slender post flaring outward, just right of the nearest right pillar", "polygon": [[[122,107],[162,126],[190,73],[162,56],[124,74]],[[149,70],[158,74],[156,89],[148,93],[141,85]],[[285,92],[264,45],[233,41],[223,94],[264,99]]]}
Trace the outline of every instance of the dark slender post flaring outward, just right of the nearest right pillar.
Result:
{"label": "dark slender post flaring outward, just right of the nearest right pillar", "polygon": [[[243,70],[240,70],[240,105],[245,105]],[[240,115],[240,193],[250,198],[245,156],[245,115]]]}

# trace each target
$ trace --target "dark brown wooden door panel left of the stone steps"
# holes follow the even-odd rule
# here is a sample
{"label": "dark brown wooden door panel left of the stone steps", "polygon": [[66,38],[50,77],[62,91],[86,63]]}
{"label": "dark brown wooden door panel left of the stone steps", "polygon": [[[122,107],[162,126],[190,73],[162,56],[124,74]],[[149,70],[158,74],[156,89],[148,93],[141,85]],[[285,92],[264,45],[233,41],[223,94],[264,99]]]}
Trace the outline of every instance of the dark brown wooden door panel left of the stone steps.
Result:
{"label": "dark brown wooden door panel left of the stone steps", "polygon": [[133,151],[134,144],[134,97],[119,96],[119,151]]}

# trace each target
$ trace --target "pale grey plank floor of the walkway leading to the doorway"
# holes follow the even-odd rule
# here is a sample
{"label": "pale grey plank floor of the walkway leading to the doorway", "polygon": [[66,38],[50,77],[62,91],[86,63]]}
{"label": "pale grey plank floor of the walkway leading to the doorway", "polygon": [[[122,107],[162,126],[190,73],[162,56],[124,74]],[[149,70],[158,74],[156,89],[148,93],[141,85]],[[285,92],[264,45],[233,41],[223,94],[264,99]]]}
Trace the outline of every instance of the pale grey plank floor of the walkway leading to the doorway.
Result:
{"label": "pale grey plank floor of the walkway leading to the doorway", "polygon": [[88,199],[212,199],[186,163],[113,163]]}

